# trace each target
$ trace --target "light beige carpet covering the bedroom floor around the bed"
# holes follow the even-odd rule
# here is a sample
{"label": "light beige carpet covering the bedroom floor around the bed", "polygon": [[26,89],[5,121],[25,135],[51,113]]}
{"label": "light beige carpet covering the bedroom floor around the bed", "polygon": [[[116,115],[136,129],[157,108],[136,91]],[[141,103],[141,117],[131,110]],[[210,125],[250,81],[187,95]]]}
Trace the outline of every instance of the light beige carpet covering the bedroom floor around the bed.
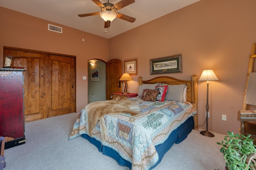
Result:
{"label": "light beige carpet covering the bedroom floor around the bed", "polygon": [[[70,113],[26,123],[26,143],[4,150],[4,170],[129,170],[82,137],[68,141],[77,116]],[[205,137],[192,130],[154,170],[223,170],[225,161],[216,142],[225,135],[214,135]]]}

